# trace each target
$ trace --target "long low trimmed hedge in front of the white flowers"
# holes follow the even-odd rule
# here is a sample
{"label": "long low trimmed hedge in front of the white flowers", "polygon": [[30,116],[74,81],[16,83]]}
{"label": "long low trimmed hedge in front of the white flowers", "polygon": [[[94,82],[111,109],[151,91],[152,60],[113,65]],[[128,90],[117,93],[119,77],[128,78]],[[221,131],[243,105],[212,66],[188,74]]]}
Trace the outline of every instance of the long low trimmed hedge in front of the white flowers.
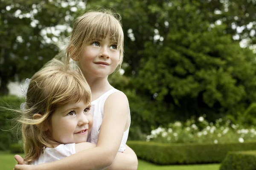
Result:
{"label": "long low trimmed hedge in front of the white flowers", "polygon": [[229,151],[256,150],[256,141],[226,144],[162,144],[128,141],[137,157],[154,164],[220,163]]}

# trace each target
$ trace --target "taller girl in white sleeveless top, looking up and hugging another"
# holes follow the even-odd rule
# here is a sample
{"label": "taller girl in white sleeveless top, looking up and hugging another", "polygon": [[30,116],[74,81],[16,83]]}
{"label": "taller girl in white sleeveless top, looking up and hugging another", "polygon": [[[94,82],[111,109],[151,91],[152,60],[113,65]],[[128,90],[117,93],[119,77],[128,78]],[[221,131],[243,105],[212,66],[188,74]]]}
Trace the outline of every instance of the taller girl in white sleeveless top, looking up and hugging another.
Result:
{"label": "taller girl in white sleeveless top, looking up and hugging another", "polygon": [[[94,124],[89,142],[96,147],[47,164],[16,165],[15,170],[104,169],[114,162],[118,151],[131,150],[125,145],[131,122],[128,99],[108,82],[108,75],[122,63],[123,39],[121,24],[111,13],[93,11],[77,18],[70,43],[58,57],[76,61],[90,85]],[[126,167],[137,169],[134,152],[123,155],[133,159]]]}

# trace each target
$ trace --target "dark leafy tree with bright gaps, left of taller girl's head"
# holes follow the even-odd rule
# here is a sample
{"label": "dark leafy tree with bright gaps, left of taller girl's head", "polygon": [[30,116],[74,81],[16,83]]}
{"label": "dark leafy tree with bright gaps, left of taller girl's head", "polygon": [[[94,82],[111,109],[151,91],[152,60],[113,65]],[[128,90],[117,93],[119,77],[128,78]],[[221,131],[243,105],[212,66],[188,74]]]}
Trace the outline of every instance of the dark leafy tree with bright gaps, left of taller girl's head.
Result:
{"label": "dark leafy tree with bright gaps, left of taller girl's head", "polygon": [[79,2],[1,0],[0,95],[8,94],[9,81],[31,77],[58,53],[54,42],[61,35],[67,36],[68,31],[63,30],[56,37],[51,30],[57,25],[70,24]]}

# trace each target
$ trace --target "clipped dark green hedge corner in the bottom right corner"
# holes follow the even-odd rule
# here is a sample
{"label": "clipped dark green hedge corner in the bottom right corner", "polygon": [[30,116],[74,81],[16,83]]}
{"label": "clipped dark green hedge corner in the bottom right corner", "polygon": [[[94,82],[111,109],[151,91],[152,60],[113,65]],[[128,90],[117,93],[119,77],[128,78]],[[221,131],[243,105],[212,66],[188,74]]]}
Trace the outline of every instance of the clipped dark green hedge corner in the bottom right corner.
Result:
{"label": "clipped dark green hedge corner in the bottom right corner", "polygon": [[256,150],[228,153],[220,170],[256,170]]}

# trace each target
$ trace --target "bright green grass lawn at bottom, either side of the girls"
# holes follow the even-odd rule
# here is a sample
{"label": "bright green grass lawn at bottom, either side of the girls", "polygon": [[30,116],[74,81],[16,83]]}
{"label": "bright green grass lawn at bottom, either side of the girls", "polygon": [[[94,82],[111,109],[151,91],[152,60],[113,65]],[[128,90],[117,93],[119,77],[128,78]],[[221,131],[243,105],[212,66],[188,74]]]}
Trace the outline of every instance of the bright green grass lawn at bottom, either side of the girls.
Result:
{"label": "bright green grass lawn at bottom, either side of the girls", "polygon": [[[14,154],[0,152],[0,170],[12,170]],[[218,170],[219,164],[158,166],[139,160],[138,170]]]}

